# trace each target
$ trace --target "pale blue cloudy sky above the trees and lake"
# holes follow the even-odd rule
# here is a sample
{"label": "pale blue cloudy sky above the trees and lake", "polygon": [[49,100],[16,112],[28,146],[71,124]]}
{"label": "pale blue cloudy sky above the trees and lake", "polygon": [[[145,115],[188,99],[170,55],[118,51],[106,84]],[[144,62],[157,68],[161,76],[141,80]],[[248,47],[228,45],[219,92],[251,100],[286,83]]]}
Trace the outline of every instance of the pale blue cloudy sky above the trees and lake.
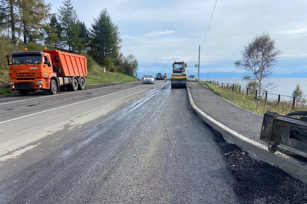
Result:
{"label": "pale blue cloudy sky above the trees and lake", "polygon": [[[307,0],[71,0],[88,28],[103,8],[118,26],[121,51],[139,61],[139,74],[171,73],[184,60],[188,74],[241,77],[234,61],[254,36],[268,32],[283,51],[275,76],[307,77]],[[56,13],[63,0],[52,0]],[[214,9],[215,7],[215,9]],[[214,12],[213,12],[214,10]],[[213,13],[213,15],[212,15]],[[212,18],[211,18],[212,16]],[[210,23],[211,19],[211,23]],[[210,23],[210,25],[209,25]]]}

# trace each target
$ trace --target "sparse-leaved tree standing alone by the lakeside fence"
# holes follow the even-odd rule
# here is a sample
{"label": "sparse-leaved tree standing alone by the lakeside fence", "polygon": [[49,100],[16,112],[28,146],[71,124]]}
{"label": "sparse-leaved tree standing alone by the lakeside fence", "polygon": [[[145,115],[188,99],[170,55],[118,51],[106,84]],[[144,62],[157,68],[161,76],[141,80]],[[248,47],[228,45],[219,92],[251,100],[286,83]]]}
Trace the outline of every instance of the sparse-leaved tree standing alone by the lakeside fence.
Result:
{"label": "sparse-leaved tree standing alone by the lakeside fence", "polygon": [[244,46],[241,51],[242,59],[235,62],[237,69],[242,69],[250,73],[243,78],[247,81],[256,81],[258,87],[258,101],[260,100],[263,88],[272,86],[270,82],[264,82],[275,70],[277,64],[277,56],[281,54],[281,50],[275,47],[275,41],[271,36],[263,32],[256,35],[253,40]]}

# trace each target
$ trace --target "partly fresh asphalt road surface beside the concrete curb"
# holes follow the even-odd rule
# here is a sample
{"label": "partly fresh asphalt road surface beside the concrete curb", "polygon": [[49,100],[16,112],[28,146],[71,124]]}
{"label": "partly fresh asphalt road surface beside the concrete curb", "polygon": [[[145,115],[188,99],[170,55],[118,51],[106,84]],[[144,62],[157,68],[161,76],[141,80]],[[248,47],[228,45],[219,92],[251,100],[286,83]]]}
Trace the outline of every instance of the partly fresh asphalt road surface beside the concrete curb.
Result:
{"label": "partly fresh asphalt road surface beside the concrete curb", "polygon": [[[271,190],[280,175],[292,186]],[[306,203],[306,189],[227,144],[170,82],[0,98],[1,204]]]}

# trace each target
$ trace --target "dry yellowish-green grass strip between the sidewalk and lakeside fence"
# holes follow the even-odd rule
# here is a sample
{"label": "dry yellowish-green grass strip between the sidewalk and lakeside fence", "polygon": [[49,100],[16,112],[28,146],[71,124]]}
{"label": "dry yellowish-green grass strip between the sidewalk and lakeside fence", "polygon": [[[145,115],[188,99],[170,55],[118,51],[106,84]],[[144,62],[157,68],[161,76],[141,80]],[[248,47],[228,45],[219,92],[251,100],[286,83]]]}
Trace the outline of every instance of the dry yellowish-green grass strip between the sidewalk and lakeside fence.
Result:
{"label": "dry yellowish-green grass strip between the sidewalk and lakeside fence", "polygon": [[306,111],[305,104],[296,104],[295,109],[292,109],[291,101],[282,101],[277,103],[277,100],[264,100],[261,99],[257,106],[257,101],[254,96],[247,96],[246,93],[233,91],[232,87],[220,87],[209,82],[199,82],[206,89],[215,93],[216,95],[240,106],[246,110],[263,115],[266,111],[276,112],[278,114],[286,115],[293,111]]}

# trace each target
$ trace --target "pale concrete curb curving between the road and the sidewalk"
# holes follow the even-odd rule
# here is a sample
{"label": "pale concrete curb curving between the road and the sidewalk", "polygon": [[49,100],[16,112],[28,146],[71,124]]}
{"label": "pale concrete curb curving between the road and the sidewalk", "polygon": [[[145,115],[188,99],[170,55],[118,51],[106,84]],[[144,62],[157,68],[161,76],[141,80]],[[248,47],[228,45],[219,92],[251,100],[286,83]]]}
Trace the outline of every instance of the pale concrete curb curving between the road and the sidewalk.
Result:
{"label": "pale concrete curb curving between the road and the sidewalk", "polygon": [[284,155],[279,152],[273,154],[267,150],[266,146],[259,144],[245,137],[244,135],[226,127],[222,123],[212,119],[210,116],[206,115],[202,110],[200,110],[194,104],[189,87],[187,87],[187,90],[188,90],[189,101],[190,101],[192,110],[205,123],[210,125],[216,131],[220,132],[226,141],[237,145],[239,148],[250,153],[254,157],[258,158],[259,160],[270,163],[271,165],[274,165],[286,171],[293,177],[307,184],[307,164],[306,163],[290,158],[287,155]]}

